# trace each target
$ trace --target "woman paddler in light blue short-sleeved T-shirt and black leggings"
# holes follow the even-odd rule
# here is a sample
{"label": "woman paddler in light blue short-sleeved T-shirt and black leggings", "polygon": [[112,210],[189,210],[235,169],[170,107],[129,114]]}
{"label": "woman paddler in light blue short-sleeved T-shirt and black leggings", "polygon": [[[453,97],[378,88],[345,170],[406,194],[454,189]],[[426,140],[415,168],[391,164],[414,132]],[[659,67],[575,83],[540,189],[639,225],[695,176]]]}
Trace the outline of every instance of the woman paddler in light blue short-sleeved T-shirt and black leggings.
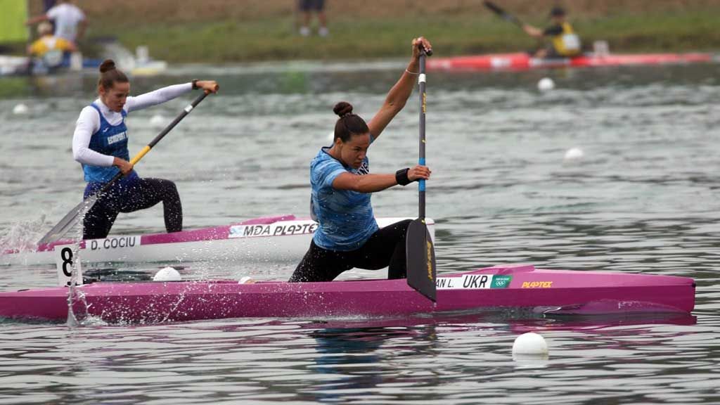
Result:
{"label": "woman paddler in light blue short-sleeved T-shirt and black leggings", "polygon": [[290,282],[332,281],[353,267],[379,270],[388,266],[388,278],[406,277],[405,233],[411,221],[379,229],[370,197],[396,184],[429,179],[431,172],[418,165],[395,174],[370,174],[366,153],[413,92],[419,73],[419,45],[431,49],[425,38],[413,40],[408,68],[369,124],[353,114],[353,106],[346,102],[333,109],[340,116],[333,145],[321,148],[310,163],[311,211],[318,229]]}

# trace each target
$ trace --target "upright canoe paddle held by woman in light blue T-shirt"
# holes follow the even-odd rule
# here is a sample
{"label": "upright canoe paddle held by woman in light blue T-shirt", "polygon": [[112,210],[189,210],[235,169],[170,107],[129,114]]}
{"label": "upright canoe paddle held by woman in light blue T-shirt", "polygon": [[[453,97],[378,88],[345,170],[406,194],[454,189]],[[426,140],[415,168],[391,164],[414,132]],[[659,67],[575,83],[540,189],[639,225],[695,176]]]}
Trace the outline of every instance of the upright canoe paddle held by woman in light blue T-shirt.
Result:
{"label": "upright canoe paddle held by woman in light blue T-shirt", "polygon": [[[424,49],[420,50],[420,75],[418,85],[420,86],[420,159],[419,164],[425,165],[425,110],[426,110],[426,76],[425,59],[426,55],[432,55]],[[408,233],[405,237],[405,252],[407,252],[408,285],[425,295],[428,299],[436,300],[436,264],[435,247],[433,239],[428,232],[425,223],[425,180],[418,181],[419,213],[418,219],[410,223]]]}

